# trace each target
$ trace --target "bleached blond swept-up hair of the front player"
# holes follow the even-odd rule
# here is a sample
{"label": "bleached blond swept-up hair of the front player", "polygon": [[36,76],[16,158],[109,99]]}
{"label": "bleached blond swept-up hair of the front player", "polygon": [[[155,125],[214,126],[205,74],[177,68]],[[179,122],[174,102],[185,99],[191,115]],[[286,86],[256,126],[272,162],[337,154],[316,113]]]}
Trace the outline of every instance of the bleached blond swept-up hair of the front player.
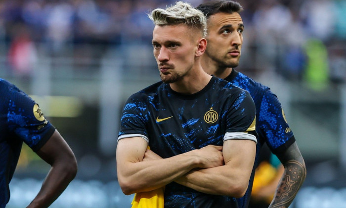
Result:
{"label": "bleached blond swept-up hair of the front player", "polygon": [[207,19],[198,9],[193,8],[190,3],[177,1],[175,5],[166,9],[154,9],[148,17],[153,20],[155,25],[177,25],[185,24],[197,28],[202,37],[207,35]]}

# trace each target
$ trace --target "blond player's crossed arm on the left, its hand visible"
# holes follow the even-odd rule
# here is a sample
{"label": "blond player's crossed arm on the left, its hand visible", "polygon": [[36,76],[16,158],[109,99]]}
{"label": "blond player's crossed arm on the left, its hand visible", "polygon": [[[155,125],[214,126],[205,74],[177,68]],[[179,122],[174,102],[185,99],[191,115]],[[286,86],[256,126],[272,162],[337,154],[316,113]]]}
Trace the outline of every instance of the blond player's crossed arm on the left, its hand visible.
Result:
{"label": "blond player's crossed arm on the left, its hand visible", "polygon": [[124,194],[151,191],[194,168],[222,165],[222,147],[208,146],[169,158],[143,161],[148,143],[141,137],[121,139],[116,159],[119,185]]}

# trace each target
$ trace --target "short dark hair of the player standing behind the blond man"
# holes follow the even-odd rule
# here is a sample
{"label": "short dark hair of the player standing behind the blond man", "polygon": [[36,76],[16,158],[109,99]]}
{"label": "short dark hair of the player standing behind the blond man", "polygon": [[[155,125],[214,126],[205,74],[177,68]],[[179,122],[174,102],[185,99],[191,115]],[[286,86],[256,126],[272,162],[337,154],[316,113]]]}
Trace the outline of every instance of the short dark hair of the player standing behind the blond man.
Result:
{"label": "short dark hair of the player standing behind the blond man", "polygon": [[202,11],[207,18],[219,12],[240,13],[241,11],[243,11],[243,7],[240,5],[240,3],[232,0],[211,0],[205,3],[201,3],[196,8]]}

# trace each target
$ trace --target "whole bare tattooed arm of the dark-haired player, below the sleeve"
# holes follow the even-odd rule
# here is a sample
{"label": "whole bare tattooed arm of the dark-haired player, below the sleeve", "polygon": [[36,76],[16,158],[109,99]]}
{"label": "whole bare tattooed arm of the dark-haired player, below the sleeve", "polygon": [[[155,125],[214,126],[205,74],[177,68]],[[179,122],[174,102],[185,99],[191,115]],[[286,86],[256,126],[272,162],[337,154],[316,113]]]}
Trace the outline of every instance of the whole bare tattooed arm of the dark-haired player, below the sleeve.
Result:
{"label": "whole bare tattooed arm of the dark-haired player, below the sleeve", "polygon": [[269,208],[288,208],[303,185],[306,167],[297,143],[293,143],[284,153],[276,155],[285,167]]}

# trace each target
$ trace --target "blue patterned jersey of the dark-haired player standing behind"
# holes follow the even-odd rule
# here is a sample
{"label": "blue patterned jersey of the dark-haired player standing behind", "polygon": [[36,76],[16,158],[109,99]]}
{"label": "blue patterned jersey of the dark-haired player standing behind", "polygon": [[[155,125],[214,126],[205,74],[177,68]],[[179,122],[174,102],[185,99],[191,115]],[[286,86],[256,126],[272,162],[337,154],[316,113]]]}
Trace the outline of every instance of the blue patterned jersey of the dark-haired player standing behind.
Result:
{"label": "blue patterned jersey of the dark-haired player standing behind", "polygon": [[284,111],[277,96],[264,86],[246,75],[232,70],[226,81],[248,91],[256,105],[256,131],[259,135],[254,169],[249,181],[249,188],[244,197],[238,199],[239,208],[247,208],[250,201],[255,169],[259,164],[259,150],[266,143],[272,153],[285,151],[296,140],[289,127]]}

